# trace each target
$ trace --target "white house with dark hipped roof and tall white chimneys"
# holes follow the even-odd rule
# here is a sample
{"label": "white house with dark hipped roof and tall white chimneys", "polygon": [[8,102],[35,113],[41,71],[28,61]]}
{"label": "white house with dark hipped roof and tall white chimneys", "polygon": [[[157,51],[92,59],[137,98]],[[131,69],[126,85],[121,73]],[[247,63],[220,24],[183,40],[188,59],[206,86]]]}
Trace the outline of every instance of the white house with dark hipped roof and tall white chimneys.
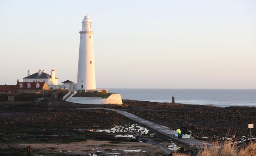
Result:
{"label": "white house with dark hipped roof and tall white chimneys", "polygon": [[55,70],[52,69],[51,74],[47,74],[44,70],[38,70],[34,74],[30,74],[30,70],[27,72],[27,77],[23,78],[23,82],[46,82],[50,87],[51,85],[58,85],[59,79],[55,77]]}

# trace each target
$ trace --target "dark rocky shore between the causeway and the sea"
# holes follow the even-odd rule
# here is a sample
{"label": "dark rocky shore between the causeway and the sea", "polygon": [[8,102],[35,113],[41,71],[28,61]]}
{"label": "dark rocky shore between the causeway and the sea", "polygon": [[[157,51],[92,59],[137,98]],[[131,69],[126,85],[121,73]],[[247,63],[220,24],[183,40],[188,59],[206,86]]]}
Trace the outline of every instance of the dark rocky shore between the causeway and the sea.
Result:
{"label": "dark rocky shore between the causeway and the sea", "polygon": [[[215,140],[235,136],[250,137],[249,123],[255,123],[256,107],[214,107],[178,103],[123,100],[123,105],[106,105],[122,109],[143,119],[176,130],[185,127],[199,140]],[[256,135],[252,129],[252,135]]]}

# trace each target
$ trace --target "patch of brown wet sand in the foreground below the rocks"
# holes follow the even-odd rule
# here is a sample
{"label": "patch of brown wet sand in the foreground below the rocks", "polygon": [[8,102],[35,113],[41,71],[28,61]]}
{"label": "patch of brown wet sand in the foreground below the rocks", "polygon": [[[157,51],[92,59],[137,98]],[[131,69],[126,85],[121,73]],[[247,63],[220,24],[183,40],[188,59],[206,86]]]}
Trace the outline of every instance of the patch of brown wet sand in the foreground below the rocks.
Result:
{"label": "patch of brown wet sand in the foreground below the rocks", "polygon": [[[164,144],[171,145],[170,142]],[[91,154],[105,152],[106,149],[111,149],[107,154],[122,152],[146,152],[147,154],[165,153],[163,150],[159,149],[158,146],[144,142],[110,144],[109,141],[88,140],[70,144],[18,144],[18,146],[23,148],[31,146],[32,152],[33,149],[42,149],[46,153]]]}

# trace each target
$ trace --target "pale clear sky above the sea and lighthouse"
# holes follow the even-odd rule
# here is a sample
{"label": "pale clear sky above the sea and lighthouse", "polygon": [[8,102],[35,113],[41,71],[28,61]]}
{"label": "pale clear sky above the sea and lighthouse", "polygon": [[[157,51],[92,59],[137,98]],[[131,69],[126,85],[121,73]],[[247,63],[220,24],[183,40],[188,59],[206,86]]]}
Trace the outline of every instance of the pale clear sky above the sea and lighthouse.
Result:
{"label": "pale clear sky above the sea and lighthouse", "polygon": [[0,0],[0,85],[76,82],[94,30],[96,88],[256,89],[255,0]]}

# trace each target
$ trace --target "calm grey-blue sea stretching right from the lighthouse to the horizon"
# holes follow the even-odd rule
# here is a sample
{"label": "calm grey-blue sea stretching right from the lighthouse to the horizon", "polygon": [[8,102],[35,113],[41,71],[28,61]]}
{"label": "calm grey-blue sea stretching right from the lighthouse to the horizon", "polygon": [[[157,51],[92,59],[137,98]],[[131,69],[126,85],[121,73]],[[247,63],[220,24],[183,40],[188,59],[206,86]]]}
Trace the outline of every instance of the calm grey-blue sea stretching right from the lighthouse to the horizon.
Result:
{"label": "calm grey-blue sea stretching right from the lighthouse to the horizon", "polygon": [[122,99],[150,102],[211,105],[217,107],[256,107],[256,89],[125,89],[110,88],[110,93],[121,94]]}

